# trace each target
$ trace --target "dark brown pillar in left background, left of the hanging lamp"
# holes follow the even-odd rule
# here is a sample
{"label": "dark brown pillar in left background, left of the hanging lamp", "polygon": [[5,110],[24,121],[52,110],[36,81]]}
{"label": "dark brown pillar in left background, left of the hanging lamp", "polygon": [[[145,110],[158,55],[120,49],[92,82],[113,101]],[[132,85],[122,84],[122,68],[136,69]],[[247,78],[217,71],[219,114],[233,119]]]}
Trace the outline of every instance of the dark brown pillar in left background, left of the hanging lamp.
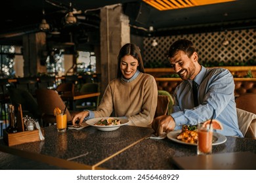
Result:
{"label": "dark brown pillar in left background, left of the hanging lamp", "polygon": [[44,32],[23,36],[24,76],[35,76],[46,73],[47,58],[46,35]]}

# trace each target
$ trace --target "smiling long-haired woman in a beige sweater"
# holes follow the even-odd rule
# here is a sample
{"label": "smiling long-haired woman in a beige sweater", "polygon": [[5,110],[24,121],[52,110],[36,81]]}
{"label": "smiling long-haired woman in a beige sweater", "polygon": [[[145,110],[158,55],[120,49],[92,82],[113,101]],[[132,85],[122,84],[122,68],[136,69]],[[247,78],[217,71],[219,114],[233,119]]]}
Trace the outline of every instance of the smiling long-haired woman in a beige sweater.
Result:
{"label": "smiling long-haired woman in a beige sweater", "polygon": [[72,120],[114,116],[127,118],[129,125],[151,127],[158,101],[158,88],[153,76],[144,73],[140,50],[135,44],[125,44],[118,55],[117,78],[112,80],[95,111],[85,110]]}

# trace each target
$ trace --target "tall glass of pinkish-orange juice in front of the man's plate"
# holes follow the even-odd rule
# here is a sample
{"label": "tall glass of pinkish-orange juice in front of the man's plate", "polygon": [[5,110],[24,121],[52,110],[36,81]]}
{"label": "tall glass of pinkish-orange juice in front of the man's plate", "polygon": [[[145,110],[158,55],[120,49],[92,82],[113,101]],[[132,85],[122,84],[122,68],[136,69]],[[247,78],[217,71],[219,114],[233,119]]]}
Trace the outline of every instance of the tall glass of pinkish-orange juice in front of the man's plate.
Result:
{"label": "tall glass of pinkish-orange juice in front of the man's plate", "polygon": [[203,124],[198,124],[198,149],[197,154],[211,154],[213,146],[213,129],[203,127]]}

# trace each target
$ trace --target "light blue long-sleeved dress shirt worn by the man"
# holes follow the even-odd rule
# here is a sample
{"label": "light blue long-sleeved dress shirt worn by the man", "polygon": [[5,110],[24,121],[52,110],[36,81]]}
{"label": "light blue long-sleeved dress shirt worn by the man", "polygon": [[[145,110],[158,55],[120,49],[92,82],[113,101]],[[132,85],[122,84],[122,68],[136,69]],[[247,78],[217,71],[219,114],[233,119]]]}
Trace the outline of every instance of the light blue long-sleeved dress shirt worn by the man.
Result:
{"label": "light blue long-sleeved dress shirt worn by the man", "polygon": [[194,107],[192,80],[184,80],[173,93],[175,103],[171,116],[176,123],[175,130],[184,124],[205,122],[211,119],[215,110],[213,119],[223,125],[223,130],[217,130],[218,133],[243,137],[238,127],[232,74],[227,69],[202,66],[194,81],[198,84],[198,106]]}

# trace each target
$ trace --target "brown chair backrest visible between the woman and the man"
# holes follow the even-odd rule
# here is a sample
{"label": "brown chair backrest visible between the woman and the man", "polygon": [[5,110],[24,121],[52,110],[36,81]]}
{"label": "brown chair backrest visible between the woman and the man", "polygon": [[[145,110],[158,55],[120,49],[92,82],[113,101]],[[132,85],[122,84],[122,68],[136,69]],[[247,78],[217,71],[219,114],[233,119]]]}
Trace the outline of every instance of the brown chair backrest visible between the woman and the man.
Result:
{"label": "brown chair backrest visible between the woman and the man", "polygon": [[168,114],[169,97],[167,95],[158,95],[158,105],[154,118]]}

